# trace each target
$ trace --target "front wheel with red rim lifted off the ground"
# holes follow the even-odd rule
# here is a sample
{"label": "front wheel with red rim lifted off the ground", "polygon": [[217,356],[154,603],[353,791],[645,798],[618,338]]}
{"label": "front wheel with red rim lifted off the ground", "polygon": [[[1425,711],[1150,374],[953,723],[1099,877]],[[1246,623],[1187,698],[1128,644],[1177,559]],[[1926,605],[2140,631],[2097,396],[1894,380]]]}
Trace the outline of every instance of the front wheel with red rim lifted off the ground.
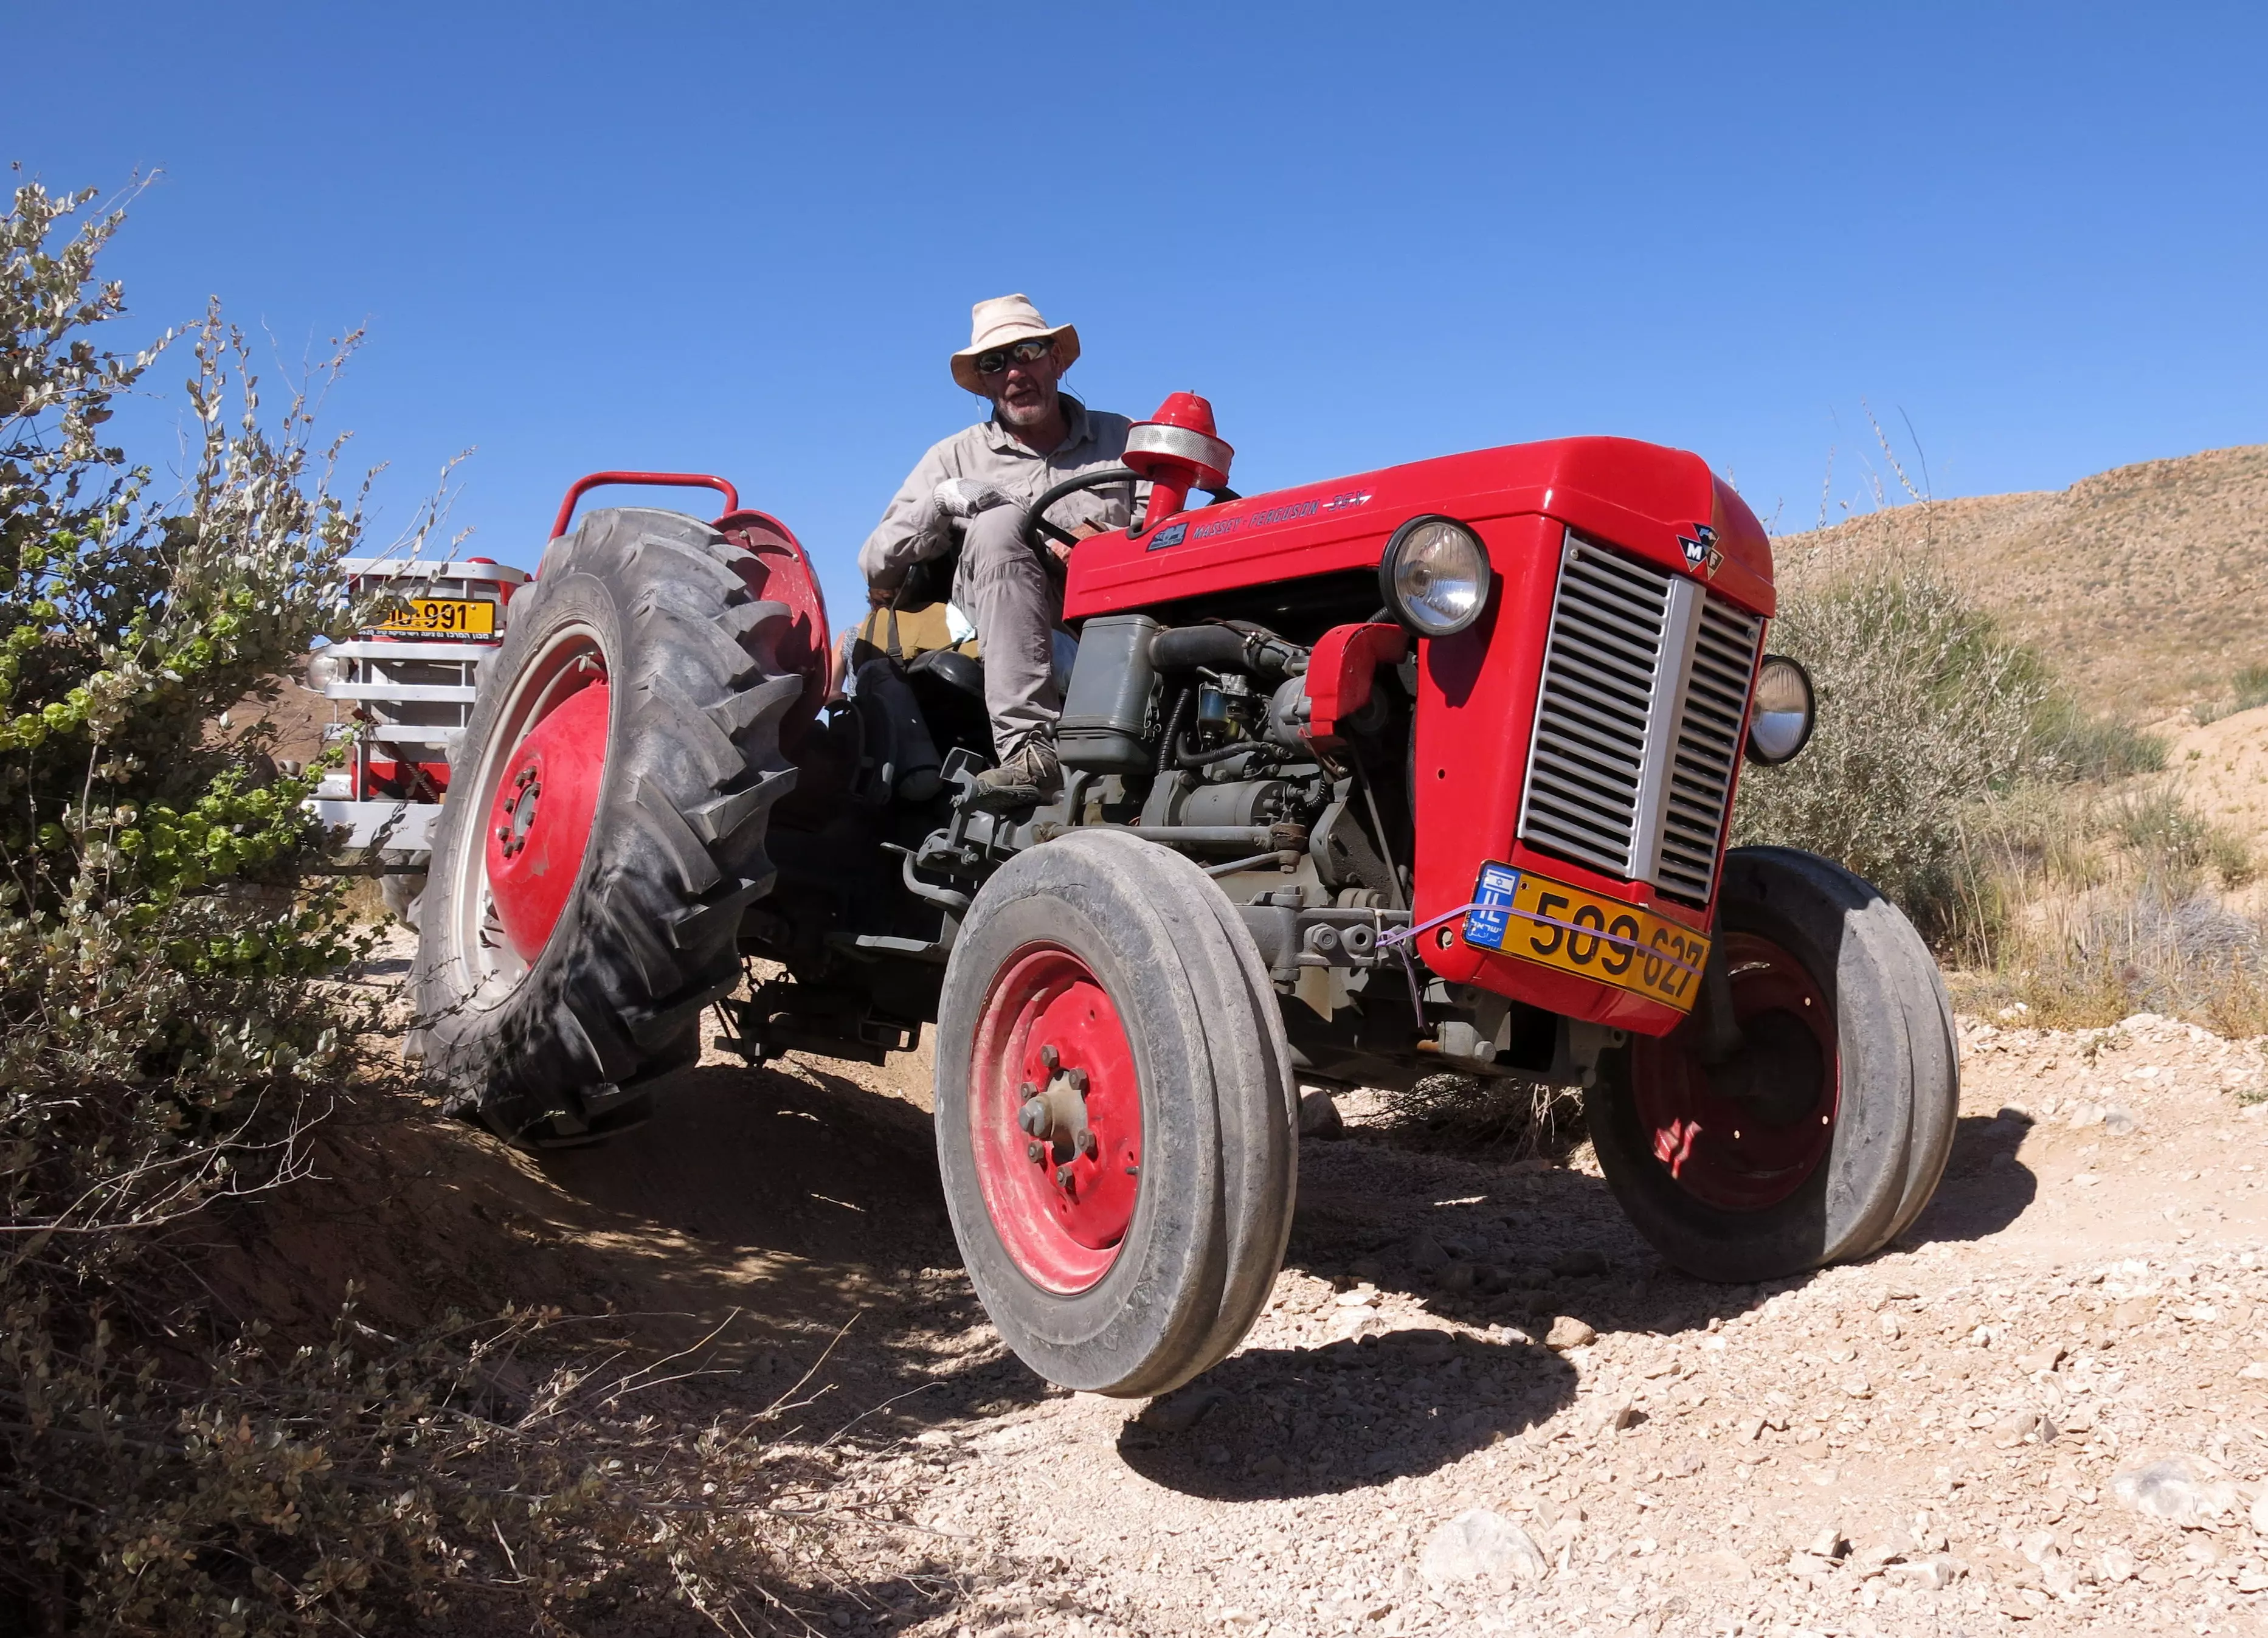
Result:
{"label": "front wheel with red rim lifted off the ground", "polygon": [[[1093,1159],[1050,1141],[1032,1159],[1014,1125],[1057,1041],[1066,1071],[1089,1071]],[[1002,867],[946,966],[937,1152],[1007,1345],[1050,1382],[1118,1398],[1227,1357],[1290,1232],[1293,1091],[1259,951],[1195,864],[1098,830]]]}

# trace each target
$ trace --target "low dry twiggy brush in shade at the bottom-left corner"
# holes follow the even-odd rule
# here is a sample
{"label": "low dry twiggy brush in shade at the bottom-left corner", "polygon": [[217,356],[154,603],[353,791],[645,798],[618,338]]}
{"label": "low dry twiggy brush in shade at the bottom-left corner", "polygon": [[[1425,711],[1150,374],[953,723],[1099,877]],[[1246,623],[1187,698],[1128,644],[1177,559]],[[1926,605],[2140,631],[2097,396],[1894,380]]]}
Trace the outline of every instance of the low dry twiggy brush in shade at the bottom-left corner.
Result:
{"label": "low dry twiggy brush in shade at the bottom-left corner", "polygon": [[796,1400],[687,1429],[646,1409],[674,1361],[581,1363],[547,1316],[392,1341],[349,1305],[329,1345],[254,1327],[193,1384],[88,1318],[61,1345],[9,1314],[39,1388],[0,1631],[798,1629],[764,1586],[837,1559],[828,1468],[773,1443]]}

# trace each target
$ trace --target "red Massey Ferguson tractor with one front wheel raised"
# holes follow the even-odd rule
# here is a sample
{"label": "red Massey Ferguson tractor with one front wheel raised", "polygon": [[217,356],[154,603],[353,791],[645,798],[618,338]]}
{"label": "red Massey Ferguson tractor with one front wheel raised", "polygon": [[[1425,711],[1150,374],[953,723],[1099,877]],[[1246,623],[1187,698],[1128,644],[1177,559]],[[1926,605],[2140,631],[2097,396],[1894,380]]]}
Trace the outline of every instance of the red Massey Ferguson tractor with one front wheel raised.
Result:
{"label": "red Massey Ferguson tractor with one front wheel raised", "polygon": [[862,649],[835,692],[773,517],[562,515],[433,839],[413,1050],[451,1107],[590,1141],[712,1007],[753,1059],[934,1023],[968,1275],[1034,1370],[1114,1395],[1252,1325],[1302,1082],[1581,1084],[1631,1221],[1706,1280],[1898,1234],[1953,1139],[1950,1007],[1873,887],[1726,851],[1742,760],[1812,721],[1742,499],[1619,438],[1256,497],[1229,456],[1175,395],[1027,510],[1052,563],[1057,501],[1148,488],[1070,547],[1064,790],[1012,812],[971,803],[980,660]]}

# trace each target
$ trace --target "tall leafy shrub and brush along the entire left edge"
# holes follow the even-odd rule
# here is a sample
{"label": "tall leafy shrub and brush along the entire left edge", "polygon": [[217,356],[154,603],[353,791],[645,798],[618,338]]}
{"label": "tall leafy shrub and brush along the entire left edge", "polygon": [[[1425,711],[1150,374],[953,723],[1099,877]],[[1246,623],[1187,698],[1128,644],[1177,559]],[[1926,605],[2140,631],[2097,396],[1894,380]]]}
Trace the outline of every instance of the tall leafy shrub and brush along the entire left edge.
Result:
{"label": "tall leafy shrub and brush along the entire left edge", "polygon": [[102,445],[156,347],[91,340],[125,299],[84,202],[0,218],[0,1633],[776,1624],[823,1543],[762,1413],[685,1436],[531,1316],[288,1345],[175,1250],[320,1189],[313,1112],[367,1096],[315,771],[204,728],[370,610],[338,442],[263,411],[218,311],[179,492]]}

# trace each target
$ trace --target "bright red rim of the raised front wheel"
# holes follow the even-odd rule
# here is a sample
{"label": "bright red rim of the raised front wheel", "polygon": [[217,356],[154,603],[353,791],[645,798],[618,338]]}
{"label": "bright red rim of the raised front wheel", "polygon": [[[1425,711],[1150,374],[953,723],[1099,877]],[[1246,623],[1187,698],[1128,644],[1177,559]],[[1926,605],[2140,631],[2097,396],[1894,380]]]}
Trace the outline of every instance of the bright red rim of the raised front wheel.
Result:
{"label": "bright red rim of the raised front wheel", "polygon": [[1141,1189],[1141,1078],[1102,980],[1057,944],[1016,951],[984,996],[968,1139],[984,1211],[1032,1284],[1075,1295],[1111,1270]]}

